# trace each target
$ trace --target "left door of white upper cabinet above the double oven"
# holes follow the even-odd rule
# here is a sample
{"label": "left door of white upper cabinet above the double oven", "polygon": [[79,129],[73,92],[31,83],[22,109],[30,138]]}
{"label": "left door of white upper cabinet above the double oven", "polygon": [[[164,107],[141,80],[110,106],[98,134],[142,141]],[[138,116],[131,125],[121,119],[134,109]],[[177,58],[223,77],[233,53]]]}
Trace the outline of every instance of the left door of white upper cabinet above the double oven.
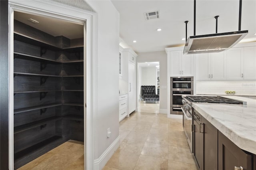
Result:
{"label": "left door of white upper cabinet above the double oven", "polygon": [[171,76],[181,76],[181,51],[170,51],[170,62]]}

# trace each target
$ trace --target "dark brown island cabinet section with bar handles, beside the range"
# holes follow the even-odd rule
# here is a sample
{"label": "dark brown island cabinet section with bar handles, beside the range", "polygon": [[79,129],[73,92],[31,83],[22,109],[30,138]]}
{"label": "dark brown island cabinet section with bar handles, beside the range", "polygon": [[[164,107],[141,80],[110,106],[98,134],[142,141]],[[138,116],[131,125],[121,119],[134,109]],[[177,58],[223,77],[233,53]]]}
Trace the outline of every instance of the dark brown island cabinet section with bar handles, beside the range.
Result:
{"label": "dark brown island cabinet section with bar handles, beside the range", "polygon": [[218,129],[196,110],[194,124],[194,157],[200,170],[218,169]]}

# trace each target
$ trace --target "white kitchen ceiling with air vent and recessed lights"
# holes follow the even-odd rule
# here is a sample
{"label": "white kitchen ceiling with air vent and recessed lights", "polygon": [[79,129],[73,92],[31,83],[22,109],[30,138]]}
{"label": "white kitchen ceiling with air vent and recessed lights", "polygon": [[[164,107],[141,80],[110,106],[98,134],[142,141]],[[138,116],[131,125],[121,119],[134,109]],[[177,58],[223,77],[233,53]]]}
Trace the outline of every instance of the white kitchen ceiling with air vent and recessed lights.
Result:
{"label": "white kitchen ceiling with air vent and recessed lights", "polygon": [[[194,0],[112,0],[120,13],[120,38],[123,47],[135,52],[164,51],[165,47],[184,46],[194,36]],[[159,11],[159,19],[146,20],[144,12]],[[238,31],[239,0],[197,0],[196,36]],[[156,31],[161,28],[162,31]],[[241,30],[248,35],[241,42],[256,41],[256,0],[242,1]],[[136,43],[133,41],[136,40]],[[122,42],[123,41],[123,42]]]}

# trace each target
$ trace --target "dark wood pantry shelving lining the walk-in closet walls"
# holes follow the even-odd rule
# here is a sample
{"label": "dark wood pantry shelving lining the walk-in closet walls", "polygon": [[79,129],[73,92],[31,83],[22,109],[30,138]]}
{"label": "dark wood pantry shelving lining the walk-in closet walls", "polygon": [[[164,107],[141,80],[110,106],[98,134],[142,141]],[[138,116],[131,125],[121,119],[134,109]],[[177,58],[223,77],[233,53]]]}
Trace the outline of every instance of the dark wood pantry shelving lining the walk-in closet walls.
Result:
{"label": "dark wood pantry shelving lining the walk-in closet walls", "polygon": [[[76,40],[78,42],[78,40]],[[84,47],[14,20],[14,168],[84,141]]]}

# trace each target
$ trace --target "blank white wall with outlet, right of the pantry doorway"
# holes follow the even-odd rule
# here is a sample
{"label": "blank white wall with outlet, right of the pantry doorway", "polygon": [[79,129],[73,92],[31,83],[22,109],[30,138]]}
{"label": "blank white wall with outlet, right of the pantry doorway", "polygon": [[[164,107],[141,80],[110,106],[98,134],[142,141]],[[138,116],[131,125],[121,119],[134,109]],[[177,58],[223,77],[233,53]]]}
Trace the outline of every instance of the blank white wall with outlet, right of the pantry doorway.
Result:
{"label": "blank white wall with outlet, right of the pantry doorway", "polygon": [[[119,136],[119,13],[111,1],[86,1],[96,12],[93,68],[94,159]],[[112,136],[107,138],[107,128]],[[102,167],[100,167],[102,168]]]}

